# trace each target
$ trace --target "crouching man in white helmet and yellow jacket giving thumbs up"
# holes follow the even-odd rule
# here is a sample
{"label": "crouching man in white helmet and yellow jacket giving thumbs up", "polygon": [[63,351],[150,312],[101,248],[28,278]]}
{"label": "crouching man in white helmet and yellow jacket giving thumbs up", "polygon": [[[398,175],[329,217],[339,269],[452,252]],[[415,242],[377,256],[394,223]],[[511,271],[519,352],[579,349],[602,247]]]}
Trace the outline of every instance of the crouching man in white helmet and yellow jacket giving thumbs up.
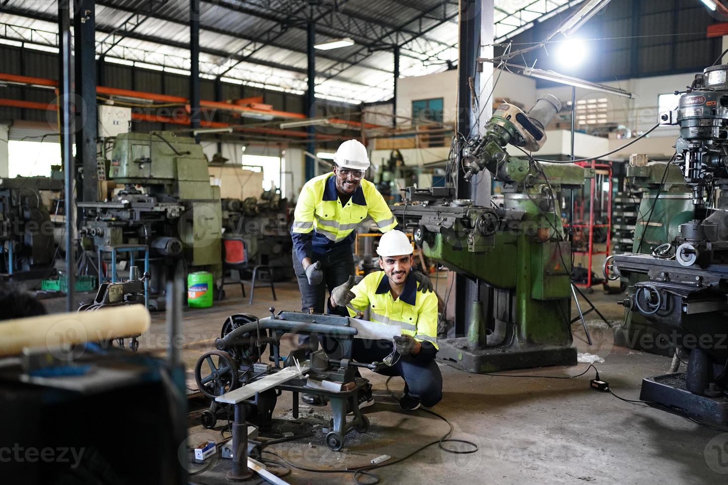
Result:
{"label": "crouching man in white helmet and yellow jacket giving thumbs up", "polygon": [[[329,310],[355,316],[370,308],[371,321],[401,326],[401,335],[390,340],[354,339],[352,358],[371,364],[392,364],[379,372],[401,376],[405,392],[400,408],[412,411],[420,404],[435,406],[443,398],[443,376],[438,352],[438,297],[435,292],[418,292],[410,269],[414,264],[412,244],[405,233],[389,231],[379,241],[379,266],[384,271],[370,273],[354,286],[354,278],[336,286],[328,300]],[[359,407],[373,404],[371,389],[359,398]]]}

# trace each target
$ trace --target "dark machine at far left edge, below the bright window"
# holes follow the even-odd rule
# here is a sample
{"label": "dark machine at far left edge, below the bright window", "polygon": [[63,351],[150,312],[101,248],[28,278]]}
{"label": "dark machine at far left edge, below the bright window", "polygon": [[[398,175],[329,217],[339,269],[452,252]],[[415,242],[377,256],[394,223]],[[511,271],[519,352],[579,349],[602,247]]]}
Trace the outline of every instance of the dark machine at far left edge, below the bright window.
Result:
{"label": "dark machine at far left edge, below the bright window", "polygon": [[0,277],[47,276],[57,245],[41,191],[62,188],[48,177],[0,179]]}

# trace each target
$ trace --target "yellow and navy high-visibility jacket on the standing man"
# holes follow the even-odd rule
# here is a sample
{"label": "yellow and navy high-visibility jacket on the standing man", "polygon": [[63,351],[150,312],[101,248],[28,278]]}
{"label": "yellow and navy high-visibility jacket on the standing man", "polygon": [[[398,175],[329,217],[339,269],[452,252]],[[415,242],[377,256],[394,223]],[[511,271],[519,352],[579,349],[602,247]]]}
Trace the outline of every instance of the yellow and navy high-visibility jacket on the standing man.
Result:
{"label": "yellow and navy high-visibility jacket on the standing man", "polygon": [[314,253],[351,251],[354,230],[368,215],[382,233],[397,226],[397,219],[384,197],[368,180],[362,179],[359,188],[342,206],[333,172],[312,178],[298,196],[290,230],[296,257],[301,261]]}

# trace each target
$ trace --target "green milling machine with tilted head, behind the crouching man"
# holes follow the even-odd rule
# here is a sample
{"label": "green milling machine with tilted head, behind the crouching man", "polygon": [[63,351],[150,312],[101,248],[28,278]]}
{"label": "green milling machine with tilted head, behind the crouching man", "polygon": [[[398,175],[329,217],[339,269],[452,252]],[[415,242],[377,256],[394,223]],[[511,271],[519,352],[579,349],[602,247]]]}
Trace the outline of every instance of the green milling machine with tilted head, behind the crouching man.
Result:
{"label": "green milling machine with tilted head, behind the crouching man", "polygon": [[[430,257],[476,281],[464,334],[440,338],[438,360],[483,373],[571,365],[571,242],[559,216],[560,193],[593,177],[572,163],[510,156],[508,144],[537,151],[545,127],[561,103],[547,95],[528,113],[503,104],[486,134],[468,140],[464,180],[488,170],[504,183],[502,207],[478,207],[455,198],[455,188],[408,188],[395,205],[400,223],[414,229],[415,243]],[[485,297],[483,297],[485,296]]]}

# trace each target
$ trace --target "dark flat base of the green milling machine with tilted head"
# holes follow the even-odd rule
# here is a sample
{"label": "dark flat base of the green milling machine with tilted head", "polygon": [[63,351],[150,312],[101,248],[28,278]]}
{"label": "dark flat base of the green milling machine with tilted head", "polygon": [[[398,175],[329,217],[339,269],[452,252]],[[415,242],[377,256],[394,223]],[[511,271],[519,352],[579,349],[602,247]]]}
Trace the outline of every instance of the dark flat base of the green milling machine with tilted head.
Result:
{"label": "dark flat base of the green milling machine with tilted head", "polygon": [[577,363],[573,345],[541,345],[518,342],[503,347],[467,348],[467,338],[439,340],[437,360],[474,374]]}

